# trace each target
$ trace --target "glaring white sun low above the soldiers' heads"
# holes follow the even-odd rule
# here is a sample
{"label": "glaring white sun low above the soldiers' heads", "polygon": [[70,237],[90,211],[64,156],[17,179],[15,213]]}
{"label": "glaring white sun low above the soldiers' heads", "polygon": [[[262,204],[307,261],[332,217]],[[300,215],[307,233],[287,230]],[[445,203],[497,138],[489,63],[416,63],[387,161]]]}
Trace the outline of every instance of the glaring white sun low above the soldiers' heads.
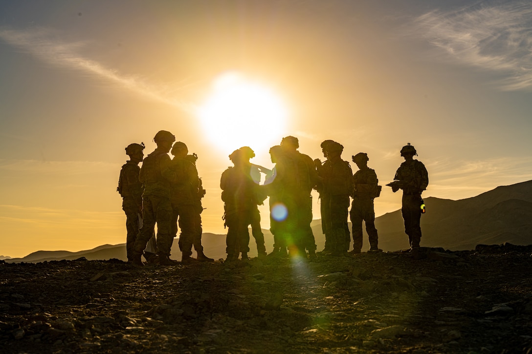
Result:
{"label": "glaring white sun low above the soldiers' heads", "polygon": [[267,86],[231,72],[213,81],[197,116],[207,140],[219,148],[232,151],[250,146],[257,151],[279,144],[287,109]]}

